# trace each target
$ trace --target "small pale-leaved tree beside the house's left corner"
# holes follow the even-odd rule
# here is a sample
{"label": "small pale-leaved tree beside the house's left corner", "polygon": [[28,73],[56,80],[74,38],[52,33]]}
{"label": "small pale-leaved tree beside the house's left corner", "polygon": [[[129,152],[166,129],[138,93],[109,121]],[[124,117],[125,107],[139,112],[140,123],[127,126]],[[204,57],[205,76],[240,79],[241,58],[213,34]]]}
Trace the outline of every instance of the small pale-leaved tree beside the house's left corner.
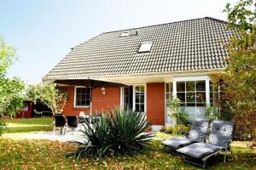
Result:
{"label": "small pale-leaved tree beside the house's left corner", "polygon": [[49,107],[53,114],[61,114],[67,103],[67,92],[57,88],[54,83],[31,86],[27,89],[27,99],[42,102]]}

